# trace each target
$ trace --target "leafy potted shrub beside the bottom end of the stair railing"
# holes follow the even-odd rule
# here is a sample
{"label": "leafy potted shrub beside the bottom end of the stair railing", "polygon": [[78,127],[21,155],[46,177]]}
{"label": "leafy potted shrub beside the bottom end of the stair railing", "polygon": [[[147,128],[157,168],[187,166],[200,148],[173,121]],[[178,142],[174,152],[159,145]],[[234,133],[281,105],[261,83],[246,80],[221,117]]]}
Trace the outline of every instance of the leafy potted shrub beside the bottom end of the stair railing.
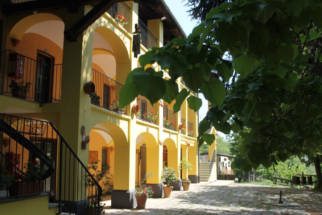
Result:
{"label": "leafy potted shrub beside the bottom end of the stair railing", "polygon": [[[109,183],[109,180],[111,178],[109,177],[109,174],[108,174],[110,166],[107,165],[106,167],[102,167],[101,169],[99,169],[99,165],[98,165],[99,162],[100,162],[99,160],[92,162],[87,167],[87,169],[90,171],[91,175],[94,178],[94,180],[93,180],[92,177],[88,176],[85,181],[85,187],[86,188],[90,187],[88,189],[89,196],[92,196],[93,195],[92,191],[96,190],[96,188],[95,188],[96,182],[98,182],[99,185],[102,187],[103,195],[107,195],[107,194],[109,194],[109,192],[111,192],[111,188],[110,188],[111,185]],[[98,201],[92,200],[88,204],[88,207],[86,207],[86,214],[88,214],[88,215],[105,214],[104,206],[105,206],[105,204],[102,204]]]}

